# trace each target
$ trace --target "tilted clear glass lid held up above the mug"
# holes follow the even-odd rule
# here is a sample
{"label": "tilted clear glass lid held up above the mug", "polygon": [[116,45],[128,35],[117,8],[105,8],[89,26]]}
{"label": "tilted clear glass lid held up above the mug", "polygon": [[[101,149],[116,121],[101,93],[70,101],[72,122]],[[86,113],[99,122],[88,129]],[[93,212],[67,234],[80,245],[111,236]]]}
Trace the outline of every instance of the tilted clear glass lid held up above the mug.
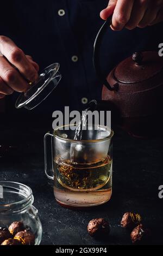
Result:
{"label": "tilted clear glass lid held up above the mug", "polygon": [[29,84],[28,90],[20,94],[16,100],[15,107],[17,109],[24,107],[32,110],[45,100],[59,84],[61,79],[59,67],[59,63],[54,63],[45,68],[39,75],[39,79]]}

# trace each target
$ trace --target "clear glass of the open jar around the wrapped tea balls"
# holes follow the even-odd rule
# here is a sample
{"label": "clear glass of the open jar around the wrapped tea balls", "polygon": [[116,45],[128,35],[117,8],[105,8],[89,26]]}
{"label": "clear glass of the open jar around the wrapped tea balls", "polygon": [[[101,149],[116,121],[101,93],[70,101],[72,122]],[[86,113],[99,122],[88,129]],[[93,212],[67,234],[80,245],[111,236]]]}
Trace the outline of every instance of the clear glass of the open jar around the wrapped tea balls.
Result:
{"label": "clear glass of the open jar around the wrapped tea balls", "polygon": [[29,228],[35,235],[35,245],[39,245],[42,225],[33,202],[32,189],[28,186],[0,181],[0,227],[9,228],[12,222],[22,221],[24,227]]}

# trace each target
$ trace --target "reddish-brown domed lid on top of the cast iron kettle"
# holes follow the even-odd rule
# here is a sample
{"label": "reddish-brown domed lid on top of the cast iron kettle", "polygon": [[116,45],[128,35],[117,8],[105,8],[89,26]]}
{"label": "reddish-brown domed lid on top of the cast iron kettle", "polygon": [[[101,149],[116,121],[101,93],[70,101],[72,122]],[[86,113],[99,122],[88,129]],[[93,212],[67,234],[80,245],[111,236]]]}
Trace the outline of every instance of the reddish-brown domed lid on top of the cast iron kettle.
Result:
{"label": "reddish-brown domed lid on top of the cast iron kettle", "polygon": [[153,78],[161,72],[163,58],[158,52],[135,52],[115,68],[114,76],[124,84],[133,84]]}

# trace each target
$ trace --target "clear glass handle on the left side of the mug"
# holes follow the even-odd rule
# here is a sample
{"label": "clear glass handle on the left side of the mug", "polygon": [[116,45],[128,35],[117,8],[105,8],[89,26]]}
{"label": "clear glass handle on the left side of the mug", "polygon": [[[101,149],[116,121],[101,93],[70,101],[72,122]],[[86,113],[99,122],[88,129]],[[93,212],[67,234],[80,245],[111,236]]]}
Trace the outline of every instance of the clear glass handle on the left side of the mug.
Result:
{"label": "clear glass handle on the left side of the mug", "polygon": [[[47,137],[51,136],[51,147],[48,147],[48,140]],[[49,170],[51,169],[51,172],[53,172],[53,134],[47,133],[44,136],[44,157],[45,157],[45,174],[50,180],[54,180],[54,176],[48,175]],[[49,150],[48,150],[49,148]],[[48,154],[49,152],[49,154]],[[48,157],[49,155],[49,157]]]}

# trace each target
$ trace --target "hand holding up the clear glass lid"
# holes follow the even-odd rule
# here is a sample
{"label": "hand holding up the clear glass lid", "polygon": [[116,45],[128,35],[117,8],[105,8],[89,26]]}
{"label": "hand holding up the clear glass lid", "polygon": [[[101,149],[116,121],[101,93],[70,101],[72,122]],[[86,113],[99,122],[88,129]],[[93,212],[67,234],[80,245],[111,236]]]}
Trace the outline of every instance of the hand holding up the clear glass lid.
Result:
{"label": "hand holding up the clear glass lid", "polygon": [[28,81],[38,78],[39,66],[25,55],[8,37],[0,36],[0,99],[16,92],[25,92]]}

